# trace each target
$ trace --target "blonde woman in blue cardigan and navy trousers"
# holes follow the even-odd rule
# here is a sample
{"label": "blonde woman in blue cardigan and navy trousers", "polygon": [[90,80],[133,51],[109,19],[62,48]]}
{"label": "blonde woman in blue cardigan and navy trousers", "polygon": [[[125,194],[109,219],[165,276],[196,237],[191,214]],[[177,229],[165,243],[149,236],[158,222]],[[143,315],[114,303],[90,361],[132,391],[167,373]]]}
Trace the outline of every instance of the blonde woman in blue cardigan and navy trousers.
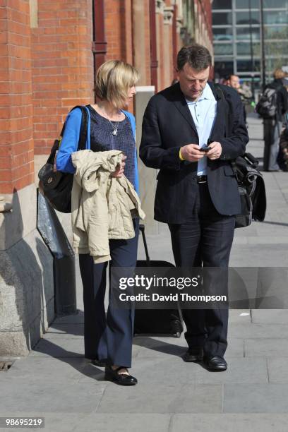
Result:
{"label": "blonde woman in blue cardigan and navy trousers", "polygon": [[[138,171],[135,144],[135,119],[127,109],[135,95],[138,71],[123,61],[106,61],[97,70],[95,92],[99,102],[88,110],[86,148],[93,152],[121,150],[124,158],[112,174],[123,174],[138,191]],[[68,114],[66,129],[57,155],[56,167],[62,172],[75,172],[71,153],[75,152],[80,133],[79,108]],[[138,218],[133,220],[135,237],[109,240],[110,266],[133,268],[138,246]],[[89,254],[79,255],[83,281],[85,357],[96,366],[105,366],[105,379],[120,385],[135,385],[137,380],[128,373],[131,367],[133,339],[133,309],[115,309],[110,303],[104,310],[107,264],[93,263]]]}

